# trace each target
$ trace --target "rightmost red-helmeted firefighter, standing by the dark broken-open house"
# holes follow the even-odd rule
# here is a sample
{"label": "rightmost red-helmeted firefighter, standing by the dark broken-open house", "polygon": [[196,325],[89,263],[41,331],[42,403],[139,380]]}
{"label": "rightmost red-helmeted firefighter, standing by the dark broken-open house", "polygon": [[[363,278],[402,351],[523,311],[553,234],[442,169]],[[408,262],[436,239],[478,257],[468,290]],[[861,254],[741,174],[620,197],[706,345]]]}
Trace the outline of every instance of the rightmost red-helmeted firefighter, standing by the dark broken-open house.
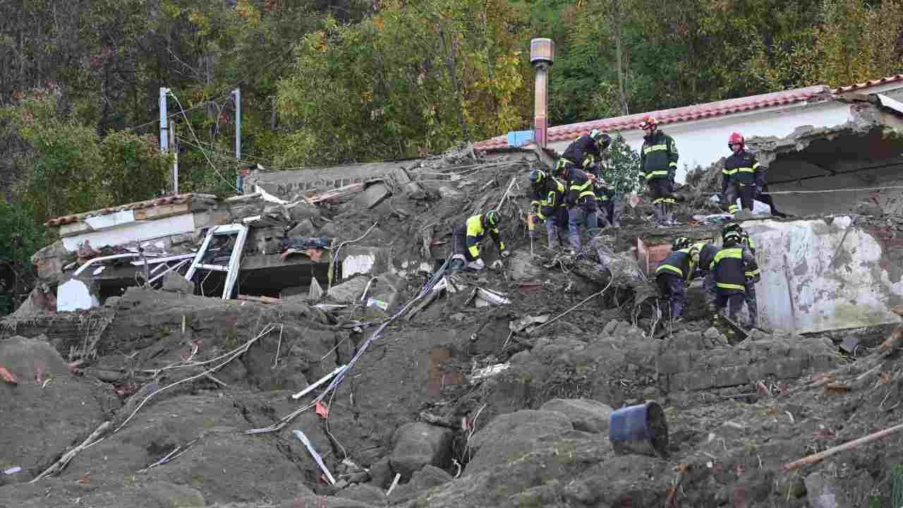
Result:
{"label": "rightmost red-helmeted firefighter, standing by the dark broken-open house", "polygon": [[728,137],[728,148],[731,156],[724,161],[721,170],[721,196],[728,204],[731,215],[740,212],[737,198],[743,210],[752,211],[752,202],[762,192],[765,183],[765,171],[756,160],[756,156],[746,149],[746,140],[739,132]]}

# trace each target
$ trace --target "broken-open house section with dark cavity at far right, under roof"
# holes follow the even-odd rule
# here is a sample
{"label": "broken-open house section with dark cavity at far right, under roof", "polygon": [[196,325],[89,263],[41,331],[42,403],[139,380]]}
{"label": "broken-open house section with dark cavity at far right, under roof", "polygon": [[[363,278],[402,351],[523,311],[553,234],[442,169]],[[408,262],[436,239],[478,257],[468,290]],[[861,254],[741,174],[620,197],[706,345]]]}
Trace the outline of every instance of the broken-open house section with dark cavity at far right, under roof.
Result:
{"label": "broken-open house section with dark cavity at far right, under roof", "polygon": [[[768,166],[769,190],[781,212],[811,215],[859,212],[903,213],[901,189],[847,192],[846,189],[903,185],[903,121],[900,111],[870,100],[853,102],[852,120],[842,126],[800,127],[783,138],[749,140],[759,161]],[[843,192],[815,193],[823,190]],[[798,192],[802,193],[789,193]],[[870,202],[878,207],[862,208]],[[880,207],[880,208],[879,208]]]}

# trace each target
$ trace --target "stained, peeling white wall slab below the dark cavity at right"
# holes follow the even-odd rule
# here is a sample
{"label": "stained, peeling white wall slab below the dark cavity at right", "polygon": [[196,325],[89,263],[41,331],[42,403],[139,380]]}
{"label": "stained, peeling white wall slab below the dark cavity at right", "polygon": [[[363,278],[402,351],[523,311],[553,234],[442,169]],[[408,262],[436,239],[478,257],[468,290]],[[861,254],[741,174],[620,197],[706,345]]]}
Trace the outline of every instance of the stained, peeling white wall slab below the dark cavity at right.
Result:
{"label": "stained, peeling white wall slab below the dark cavity at right", "polygon": [[744,223],[759,245],[760,325],[802,334],[899,322],[889,306],[903,297],[903,279],[880,267],[880,244],[868,232],[853,227],[843,239],[851,222]]}

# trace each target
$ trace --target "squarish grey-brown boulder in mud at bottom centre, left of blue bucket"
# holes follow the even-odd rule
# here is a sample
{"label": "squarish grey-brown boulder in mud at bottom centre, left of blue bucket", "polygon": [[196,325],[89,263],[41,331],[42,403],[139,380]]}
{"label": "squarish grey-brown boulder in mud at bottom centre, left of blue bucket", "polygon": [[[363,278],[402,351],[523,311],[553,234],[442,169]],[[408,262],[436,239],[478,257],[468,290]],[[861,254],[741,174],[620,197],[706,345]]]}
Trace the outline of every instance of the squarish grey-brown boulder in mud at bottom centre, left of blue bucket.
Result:
{"label": "squarish grey-brown boulder in mud at bottom centre, left of blue bucket", "polygon": [[422,422],[409,423],[396,430],[389,456],[392,470],[410,478],[426,465],[448,466],[452,452],[452,431]]}

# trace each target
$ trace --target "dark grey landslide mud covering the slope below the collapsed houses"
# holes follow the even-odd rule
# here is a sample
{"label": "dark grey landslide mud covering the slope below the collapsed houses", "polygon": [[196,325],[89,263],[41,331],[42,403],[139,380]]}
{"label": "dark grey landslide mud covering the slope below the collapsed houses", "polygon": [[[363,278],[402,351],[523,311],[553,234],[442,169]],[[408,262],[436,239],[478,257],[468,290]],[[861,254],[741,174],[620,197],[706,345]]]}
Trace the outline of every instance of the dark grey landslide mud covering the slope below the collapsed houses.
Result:
{"label": "dark grey landslide mud covering the slope below the collapsed houses", "polygon": [[[903,434],[785,467],[903,421],[898,343],[880,347],[893,332],[865,334],[855,356],[839,336],[741,340],[710,328],[699,301],[689,323],[653,328],[651,306],[617,277],[573,308],[604,286],[543,240],[530,256],[519,221],[529,164],[396,192],[373,210],[322,207],[330,221],[316,225],[340,239],[377,221],[360,245],[396,259],[423,259],[432,231],[439,259],[454,221],[520,180],[501,207],[515,250],[504,268],[457,275],[458,291],[399,317],[320,408],[273,432],[247,433],[307,406],[325,385],[292,394],[348,363],[388,313],[132,288],[95,312],[109,324],[80,364],[67,362],[88,341],[7,322],[0,366],[18,383],[0,381],[0,506],[641,507],[669,495],[673,506],[893,506]],[[624,230],[646,227],[641,207],[625,215]],[[389,313],[427,275],[401,279]],[[475,287],[510,303],[473,306]],[[532,332],[515,323],[572,308]],[[610,411],[646,400],[665,409],[666,454],[616,455]],[[107,421],[102,440],[30,483]]]}

